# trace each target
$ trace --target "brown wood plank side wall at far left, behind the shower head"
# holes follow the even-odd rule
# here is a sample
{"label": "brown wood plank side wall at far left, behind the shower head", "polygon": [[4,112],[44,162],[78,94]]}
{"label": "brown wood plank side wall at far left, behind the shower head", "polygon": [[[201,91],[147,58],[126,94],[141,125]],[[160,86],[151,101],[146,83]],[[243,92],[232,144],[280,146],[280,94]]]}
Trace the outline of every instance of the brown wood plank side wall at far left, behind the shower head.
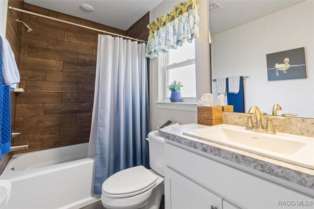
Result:
{"label": "brown wood plank side wall at far left, behind the shower head", "polygon": [[[9,0],[8,5],[23,9],[23,0]],[[6,31],[5,38],[10,43],[11,49],[14,52],[15,61],[19,64],[20,57],[20,40],[21,40],[21,24],[16,23],[16,19],[22,20],[22,13],[14,10],[8,10],[7,21],[6,21]],[[24,27],[24,26],[23,26]],[[14,130],[14,118],[15,118],[15,105],[16,105],[16,95],[14,92],[10,92],[11,97],[11,130]],[[12,142],[13,145],[13,142]],[[0,161],[0,174],[4,170],[5,166],[11,159],[13,153],[2,155],[2,160]]]}

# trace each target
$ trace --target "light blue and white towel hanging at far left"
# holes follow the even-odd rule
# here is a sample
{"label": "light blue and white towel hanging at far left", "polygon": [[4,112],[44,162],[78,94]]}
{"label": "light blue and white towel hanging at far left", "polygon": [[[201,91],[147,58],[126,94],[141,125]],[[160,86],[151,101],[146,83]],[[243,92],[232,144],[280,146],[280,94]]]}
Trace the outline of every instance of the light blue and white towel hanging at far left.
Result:
{"label": "light blue and white towel hanging at far left", "polygon": [[15,62],[9,42],[1,38],[1,56],[2,56],[2,85],[11,85],[20,82],[20,73]]}

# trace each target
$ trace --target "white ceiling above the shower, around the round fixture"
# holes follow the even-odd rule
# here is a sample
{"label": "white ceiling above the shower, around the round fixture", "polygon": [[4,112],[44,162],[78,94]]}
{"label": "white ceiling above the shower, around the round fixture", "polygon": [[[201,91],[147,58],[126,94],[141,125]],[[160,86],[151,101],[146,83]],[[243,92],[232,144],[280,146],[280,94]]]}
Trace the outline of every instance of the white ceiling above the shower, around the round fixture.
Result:
{"label": "white ceiling above the shower, around the round fixture", "polygon": [[[90,20],[106,26],[129,29],[147,12],[153,10],[162,0],[24,0],[24,2]],[[94,7],[85,12],[80,4]]]}

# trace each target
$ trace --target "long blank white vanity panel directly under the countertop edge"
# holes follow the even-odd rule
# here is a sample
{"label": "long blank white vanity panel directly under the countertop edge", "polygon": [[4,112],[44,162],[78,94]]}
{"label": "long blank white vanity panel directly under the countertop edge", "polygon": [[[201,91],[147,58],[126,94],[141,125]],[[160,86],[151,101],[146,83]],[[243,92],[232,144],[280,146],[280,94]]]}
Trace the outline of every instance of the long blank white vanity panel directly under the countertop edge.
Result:
{"label": "long blank white vanity panel directly under the countertop edge", "polygon": [[285,206],[286,202],[296,201],[297,204],[306,205],[309,201],[314,201],[313,194],[304,195],[279,183],[264,180],[172,144],[165,143],[165,160],[168,167],[241,208],[291,209],[291,205]]}

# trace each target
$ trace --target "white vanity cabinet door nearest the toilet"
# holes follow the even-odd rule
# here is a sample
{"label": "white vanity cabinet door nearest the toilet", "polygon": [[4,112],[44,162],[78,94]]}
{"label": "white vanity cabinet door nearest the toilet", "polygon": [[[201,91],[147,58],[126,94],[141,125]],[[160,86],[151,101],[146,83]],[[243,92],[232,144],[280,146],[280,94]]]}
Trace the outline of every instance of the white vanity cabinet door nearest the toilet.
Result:
{"label": "white vanity cabinet door nearest the toilet", "polygon": [[222,198],[166,167],[165,208],[222,209]]}

